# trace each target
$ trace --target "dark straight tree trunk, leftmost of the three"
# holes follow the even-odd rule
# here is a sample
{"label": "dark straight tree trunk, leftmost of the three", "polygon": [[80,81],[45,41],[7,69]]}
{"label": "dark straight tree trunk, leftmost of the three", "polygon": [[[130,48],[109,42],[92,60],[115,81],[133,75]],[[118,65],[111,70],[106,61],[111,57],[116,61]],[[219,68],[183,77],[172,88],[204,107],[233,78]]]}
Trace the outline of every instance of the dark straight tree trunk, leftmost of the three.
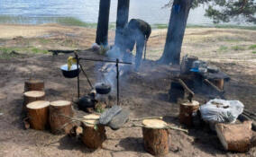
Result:
{"label": "dark straight tree trunk, leftmost of the three", "polygon": [[100,0],[96,30],[98,45],[107,45],[110,2],[111,0]]}

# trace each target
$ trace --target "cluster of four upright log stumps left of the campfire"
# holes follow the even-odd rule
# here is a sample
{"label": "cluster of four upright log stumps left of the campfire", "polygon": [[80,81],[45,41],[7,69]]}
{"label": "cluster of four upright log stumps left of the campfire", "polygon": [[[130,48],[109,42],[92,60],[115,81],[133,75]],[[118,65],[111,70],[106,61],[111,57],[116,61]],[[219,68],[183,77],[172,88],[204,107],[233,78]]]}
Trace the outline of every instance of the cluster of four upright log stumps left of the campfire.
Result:
{"label": "cluster of four upright log stumps left of the campfire", "polygon": [[26,114],[25,127],[44,130],[50,126],[53,134],[69,133],[72,128],[72,104],[67,100],[49,102],[45,100],[44,82],[27,80],[24,83],[23,112]]}

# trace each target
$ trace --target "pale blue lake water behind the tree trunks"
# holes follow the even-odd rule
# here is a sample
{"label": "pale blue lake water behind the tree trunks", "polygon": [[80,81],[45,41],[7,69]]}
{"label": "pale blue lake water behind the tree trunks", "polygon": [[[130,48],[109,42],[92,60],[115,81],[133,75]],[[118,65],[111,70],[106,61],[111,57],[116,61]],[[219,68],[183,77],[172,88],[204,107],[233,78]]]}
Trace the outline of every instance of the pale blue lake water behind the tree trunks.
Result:
{"label": "pale blue lake water behind the tree trunks", "polygon": [[[130,19],[168,23],[170,9],[163,8],[169,0],[131,0]],[[43,23],[48,17],[75,17],[83,22],[97,22],[99,0],[0,0],[0,16],[22,16],[27,23]],[[111,2],[110,22],[115,22],[117,0]],[[209,25],[204,7],[191,10],[188,24]]]}

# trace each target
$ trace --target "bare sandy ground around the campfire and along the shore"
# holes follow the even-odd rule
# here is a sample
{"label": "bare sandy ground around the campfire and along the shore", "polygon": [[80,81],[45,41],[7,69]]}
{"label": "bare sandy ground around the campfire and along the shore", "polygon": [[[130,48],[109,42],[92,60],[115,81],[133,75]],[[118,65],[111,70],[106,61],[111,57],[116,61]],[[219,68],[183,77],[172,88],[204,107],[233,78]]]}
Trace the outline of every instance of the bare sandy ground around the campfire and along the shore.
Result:
{"label": "bare sandy ground around the campfire and along the shore", "polygon": [[[55,24],[0,25],[0,46],[87,49],[94,42],[95,32],[94,29]],[[166,30],[152,32],[148,58],[155,60],[160,57],[165,33]],[[110,43],[113,39],[114,32],[110,31]],[[256,31],[187,29],[182,55],[196,55],[230,74],[232,79],[225,84],[225,98],[241,100],[246,109],[255,111],[256,57],[250,48],[256,44],[255,41]],[[19,53],[25,52],[21,50]],[[81,55],[99,57],[90,50]],[[23,129],[21,110],[25,79],[43,79],[47,100],[50,101],[72,100],[77,96],[76,79],[65,79],[59,71],[59,66],[66,63],[67,57],[69,55],[29,55],[0,60],[0,113],[4,113],[0,116],[0,156],[151,156],[143,149],[141,128],[122,128],[118,131],[107,128],[107,140],[103,148],[96,151],[88,150],[79,140],[66,135]],[[90,79],[96,83],[100,64],[84,64]],[[142,63],[139,73],[123,75],[121,105],[131,110],[131,118],[164,116],[169,124],[180,126],[178,104],[168,101],[170,78],[176,70],[177,67],[156,65],[154,61],[147,60]],[[84,77],[81,80],[82,93],[86,94],[89,86]],[[204,103],[209,97],[197,95],[196,100]],[[85,113],[76,110],[76,114]],[[167,156],[256,156],[256,148],[248,153],[226,153],[217,136],[204,126],[190,129],[188,135],[171,130]]]}

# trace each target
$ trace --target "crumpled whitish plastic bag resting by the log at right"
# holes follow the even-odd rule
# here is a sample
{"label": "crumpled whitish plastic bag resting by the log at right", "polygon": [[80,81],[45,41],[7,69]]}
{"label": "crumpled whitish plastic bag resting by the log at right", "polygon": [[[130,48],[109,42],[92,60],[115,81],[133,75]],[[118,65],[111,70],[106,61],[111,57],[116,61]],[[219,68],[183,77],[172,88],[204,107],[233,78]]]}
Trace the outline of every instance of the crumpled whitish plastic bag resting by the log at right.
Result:
{"label": "crumpled whitish plastic bag resting by the log at right", "polygon": [[234,123],[243,111],[239,100],[210,100],[200,107],[201,117],[210,123]]}

